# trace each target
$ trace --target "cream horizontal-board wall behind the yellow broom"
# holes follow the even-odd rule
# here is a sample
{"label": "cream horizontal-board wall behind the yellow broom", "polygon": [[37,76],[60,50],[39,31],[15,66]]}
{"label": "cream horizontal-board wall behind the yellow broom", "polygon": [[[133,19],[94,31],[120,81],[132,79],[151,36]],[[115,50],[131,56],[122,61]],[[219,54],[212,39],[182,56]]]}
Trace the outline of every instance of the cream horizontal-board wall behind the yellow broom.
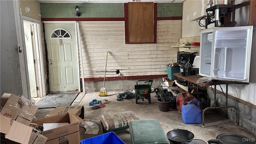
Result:
{"label": "cream horizontal-board wall behind the yellow broom", "polygon": [[167,74],[166,64],[177,62],[181,20],[157,21],[157,44],[125,44],[124,22],[79,22],[84,77],[102,77],[108,51],[107,70],[112,76]]}

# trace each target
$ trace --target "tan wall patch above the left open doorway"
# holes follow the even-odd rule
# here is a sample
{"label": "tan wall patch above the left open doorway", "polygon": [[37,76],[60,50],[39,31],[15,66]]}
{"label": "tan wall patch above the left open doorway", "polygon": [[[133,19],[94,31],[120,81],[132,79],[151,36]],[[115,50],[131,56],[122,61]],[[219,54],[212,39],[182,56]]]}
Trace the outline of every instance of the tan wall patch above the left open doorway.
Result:
{"label": "tan wall patch above the left open doorway", "polygon": [[[30,12],[26,12],[26,6]],[[22,16],[41,20],[40,3],[36,0],[20,0],[20,12]]]}

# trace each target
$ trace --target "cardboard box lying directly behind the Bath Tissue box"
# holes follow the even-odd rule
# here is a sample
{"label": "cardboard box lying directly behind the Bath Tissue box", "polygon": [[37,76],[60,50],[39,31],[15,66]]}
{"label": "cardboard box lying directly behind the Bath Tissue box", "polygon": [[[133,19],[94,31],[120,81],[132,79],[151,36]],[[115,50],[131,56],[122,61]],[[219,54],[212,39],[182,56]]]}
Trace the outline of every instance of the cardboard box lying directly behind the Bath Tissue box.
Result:
{"label": "cardboard box lying directly behind the Bath Tissue box", "polygon": [[64,114],[66,112],[70,112],[84,119],[84,106],[58,106],[45,117]]}

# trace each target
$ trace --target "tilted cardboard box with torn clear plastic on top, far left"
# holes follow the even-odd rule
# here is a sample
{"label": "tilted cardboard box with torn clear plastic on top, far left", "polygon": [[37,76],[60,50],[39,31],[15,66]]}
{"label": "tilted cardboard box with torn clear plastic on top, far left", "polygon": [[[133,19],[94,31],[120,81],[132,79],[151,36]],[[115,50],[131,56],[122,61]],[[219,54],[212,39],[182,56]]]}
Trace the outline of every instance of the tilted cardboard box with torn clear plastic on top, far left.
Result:
{"label": "tilted cardboard box with torn clear plastic on top, far left", "polygon": [[17,122],[29,126],[38,110],[38,106],[28,106],[28,104],[22,98],[24,97],[16,96],[15,94],[4,93],[0,99],[2,109],[0,114],[8,116]]}

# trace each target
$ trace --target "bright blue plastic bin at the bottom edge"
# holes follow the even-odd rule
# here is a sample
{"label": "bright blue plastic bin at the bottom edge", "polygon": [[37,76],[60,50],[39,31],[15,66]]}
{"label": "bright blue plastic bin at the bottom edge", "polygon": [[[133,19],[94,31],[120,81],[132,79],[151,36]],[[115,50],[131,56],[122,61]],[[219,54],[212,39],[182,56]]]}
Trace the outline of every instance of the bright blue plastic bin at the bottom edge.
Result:
{"label": "bright blue plastic bin at the bottom edge", "polygon": [[80,144],[125,144],[114,132],[81,140]]}

